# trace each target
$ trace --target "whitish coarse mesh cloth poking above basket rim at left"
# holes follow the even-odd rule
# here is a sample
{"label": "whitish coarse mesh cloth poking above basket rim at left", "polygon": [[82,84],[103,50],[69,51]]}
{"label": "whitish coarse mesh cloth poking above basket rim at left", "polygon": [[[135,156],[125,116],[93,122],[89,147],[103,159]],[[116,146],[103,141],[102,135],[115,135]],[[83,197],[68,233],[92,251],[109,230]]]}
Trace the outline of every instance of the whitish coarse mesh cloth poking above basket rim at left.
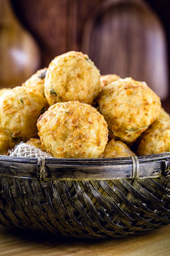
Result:
{"label": "whitish coarse mesh cloth poking above basket rim at left", "polygon": [[8,151],[11,157],[52,157],[49,153],[42,151],[40,148],[31,146],[28,143],[21,142],[15,148]]}

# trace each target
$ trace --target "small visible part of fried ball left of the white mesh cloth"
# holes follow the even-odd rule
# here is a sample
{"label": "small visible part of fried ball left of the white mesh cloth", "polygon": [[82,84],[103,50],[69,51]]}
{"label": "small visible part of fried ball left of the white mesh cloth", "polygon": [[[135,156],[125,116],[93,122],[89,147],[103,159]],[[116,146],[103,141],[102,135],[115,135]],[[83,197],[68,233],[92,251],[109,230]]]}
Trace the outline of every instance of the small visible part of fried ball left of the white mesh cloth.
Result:
{"label": "small visible part of fried ball left of the white mesh cloth", "polygon": [[15,146],[15,141],[4,132],[0,131],[0,155],[7,155],[8,150]]}

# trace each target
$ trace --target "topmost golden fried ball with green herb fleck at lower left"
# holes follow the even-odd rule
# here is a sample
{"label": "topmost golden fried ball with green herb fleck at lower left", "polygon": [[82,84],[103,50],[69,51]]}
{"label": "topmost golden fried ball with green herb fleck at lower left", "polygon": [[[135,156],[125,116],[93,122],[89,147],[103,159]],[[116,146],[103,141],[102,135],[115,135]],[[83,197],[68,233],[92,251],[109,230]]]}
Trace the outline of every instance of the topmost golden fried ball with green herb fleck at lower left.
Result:
{"label": "topmost golden fried ball with green herb fleck at lower left", "polygon": [[75,100],[92,104],[101,89],[100,72],[88,55],[66,52],[49,64],[44,87],[50,106]]}

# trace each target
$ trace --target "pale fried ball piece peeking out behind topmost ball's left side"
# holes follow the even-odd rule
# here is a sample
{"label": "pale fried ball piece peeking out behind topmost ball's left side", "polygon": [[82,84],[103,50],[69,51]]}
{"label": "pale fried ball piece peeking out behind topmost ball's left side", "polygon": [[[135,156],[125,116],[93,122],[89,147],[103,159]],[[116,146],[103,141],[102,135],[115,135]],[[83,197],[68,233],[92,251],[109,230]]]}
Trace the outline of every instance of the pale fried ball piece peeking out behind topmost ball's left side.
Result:
{"label": "pale fried ball piece peeking out behind topmost ball's left side", "polygon": [[40,90],[40,92],[44,95],[44,81],[46,76],[46,67],[38,70],[35,74],[33,74],[29,79],[27,79],[22,86],[26,86],[29,88],[33,88],[35,90]]}

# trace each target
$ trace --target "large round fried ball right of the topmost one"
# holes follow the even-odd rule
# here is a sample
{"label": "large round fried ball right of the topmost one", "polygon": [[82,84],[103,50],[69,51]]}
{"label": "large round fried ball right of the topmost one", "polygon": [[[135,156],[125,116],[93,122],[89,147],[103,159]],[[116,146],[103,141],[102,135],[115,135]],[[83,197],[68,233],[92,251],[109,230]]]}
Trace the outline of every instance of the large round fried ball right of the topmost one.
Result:
{"label": "large round fried ball right of the topmost one", "polygon": [[132,144],[159,116],[160,98],[145,82],[128,77],[106,85],[97,98],[109,135]]}

